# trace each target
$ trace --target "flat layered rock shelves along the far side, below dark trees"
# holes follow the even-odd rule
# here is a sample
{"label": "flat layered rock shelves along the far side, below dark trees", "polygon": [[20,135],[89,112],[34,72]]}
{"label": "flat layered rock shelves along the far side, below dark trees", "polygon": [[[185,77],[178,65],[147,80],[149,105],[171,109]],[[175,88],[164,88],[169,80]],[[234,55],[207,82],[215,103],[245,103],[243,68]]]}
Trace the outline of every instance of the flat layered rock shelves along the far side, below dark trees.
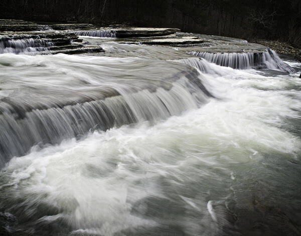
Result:
{"label": "flat layered rock shelves along the far side, below dark trees", "polygon": [[[59,31],[59,32],[58,32]],[[102,40],[97,42],[82,36],[104,37],[103,42],[118,44],[142,44],[152,46],[171,46],[181,53],[261,53],[268,48],[280,54],[290,54],[301,59],[301,50],[294,49],[279,42],[246,40],[229,37],[210,36],[202,34],[182,33],[179,29],[171,28],[135,28],[135,27],[102,27],[91,24],[47,24],[41,25],[21,20],[0,20],[0,43],[9,40],[33,39],[48,40],[44,53],[91,53],[103,52]],[[39,42],[40,42],[39,41]],[[33,44],[31,42],[31,44]],[[90,44],[90,45],[87,45]],[[39,44],[38,44],[39,45]],[[40,43],[40,46],[43,44]],[[3,47],[3,46],[2,46]],[[19,47],[19,46],[18,46]],[[111,55],[109,55],[111,56]],[[116,55],[117,56],[117,55]],[[120,55],[122,57],[122,55]]]}

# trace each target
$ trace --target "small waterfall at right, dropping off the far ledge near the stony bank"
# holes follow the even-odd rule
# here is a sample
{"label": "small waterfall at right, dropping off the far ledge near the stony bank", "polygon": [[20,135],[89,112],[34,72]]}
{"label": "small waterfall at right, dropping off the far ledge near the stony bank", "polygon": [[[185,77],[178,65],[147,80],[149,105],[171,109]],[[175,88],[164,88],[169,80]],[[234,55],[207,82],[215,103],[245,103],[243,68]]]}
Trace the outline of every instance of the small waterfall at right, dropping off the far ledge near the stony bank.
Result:
{"label": "small waterfall at right, dropping off the far ledge near the stony bank", "polygon": [[234,69],[270,69],[283,72],[293,72],[293,69],[282,62],[278,55],[271,49],[261,53],[207,53],[189,52],[199,58],[219,66],[231,67]]}

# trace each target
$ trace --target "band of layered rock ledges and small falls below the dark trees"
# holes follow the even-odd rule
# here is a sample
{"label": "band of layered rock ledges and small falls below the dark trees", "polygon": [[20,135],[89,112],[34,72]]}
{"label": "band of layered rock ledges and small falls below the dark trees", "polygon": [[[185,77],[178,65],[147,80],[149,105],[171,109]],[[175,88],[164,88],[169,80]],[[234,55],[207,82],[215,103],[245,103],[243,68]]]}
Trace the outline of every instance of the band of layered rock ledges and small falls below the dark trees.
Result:
{"label": "band of layered rock ledges and small falls below the dark trees", "polygon": [[[291,72],[289,66],[281,63],[280,54],[293,55],[301,59],[297,49],[272,41],[256,41],[220,37],[212,35],[183,33],[171,28],[112,27],[99,28],[90,24],[48,24],[20,20],[0,20],[0,53],[30,54],[84,54],[101,53],[102,56],[131,57],[127,50],[112,52],[112,47],[122,47],[105,43],[152,45],[171,47],[179,51],[180,58],[205,58],[209,62],[235,69],[266,68],[265,61],[272,63],[273,70]],[[31,26],[29,28],[29,26]],[[23,30],[23,31],[22,31]],[[94,39],[93,39],[94,38]],[[96,38],[96,40],[95,40]],[[98,39],[97,39],[98,38]],[[113,46],[114,45],[114,46]],[[107,47],[104,52],[102,46]],[[153,48],[147,48],[153,50]],[[283,51],[284,50],[284,51]],[[185,55],[185,56],[183,56]],[[168,57],[170,59],[170,57]],[[281,64],[281,66],[279,66]],[[285,69],[284,69],[285,68]]]}

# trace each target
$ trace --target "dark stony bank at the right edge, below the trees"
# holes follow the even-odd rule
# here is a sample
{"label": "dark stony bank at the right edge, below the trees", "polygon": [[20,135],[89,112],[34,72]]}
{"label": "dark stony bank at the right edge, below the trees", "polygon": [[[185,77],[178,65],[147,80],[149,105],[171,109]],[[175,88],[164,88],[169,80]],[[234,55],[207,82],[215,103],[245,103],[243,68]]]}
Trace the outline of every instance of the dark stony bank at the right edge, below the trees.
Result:
{"label": "dark stony bank at the right edge, below the trees", "polygon": [[288,43],[269,40],[248,40],[248,42],[264,45],[278,54],[289,55],[301,62],[301,49],[294,48]]}

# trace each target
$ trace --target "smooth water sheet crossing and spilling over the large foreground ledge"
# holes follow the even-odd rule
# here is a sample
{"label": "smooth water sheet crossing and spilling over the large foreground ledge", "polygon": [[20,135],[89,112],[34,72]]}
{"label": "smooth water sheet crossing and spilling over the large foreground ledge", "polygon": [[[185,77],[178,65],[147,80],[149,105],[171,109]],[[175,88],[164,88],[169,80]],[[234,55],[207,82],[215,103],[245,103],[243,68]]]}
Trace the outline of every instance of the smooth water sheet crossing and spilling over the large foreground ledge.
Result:
{"label": "smooth water sheet crossing and spilling over the large foreground ledge", "polygon": [[10,54],[0,68],[0,166],[37,143],[156,122],[211,96],[194,68],[168,61]]}

